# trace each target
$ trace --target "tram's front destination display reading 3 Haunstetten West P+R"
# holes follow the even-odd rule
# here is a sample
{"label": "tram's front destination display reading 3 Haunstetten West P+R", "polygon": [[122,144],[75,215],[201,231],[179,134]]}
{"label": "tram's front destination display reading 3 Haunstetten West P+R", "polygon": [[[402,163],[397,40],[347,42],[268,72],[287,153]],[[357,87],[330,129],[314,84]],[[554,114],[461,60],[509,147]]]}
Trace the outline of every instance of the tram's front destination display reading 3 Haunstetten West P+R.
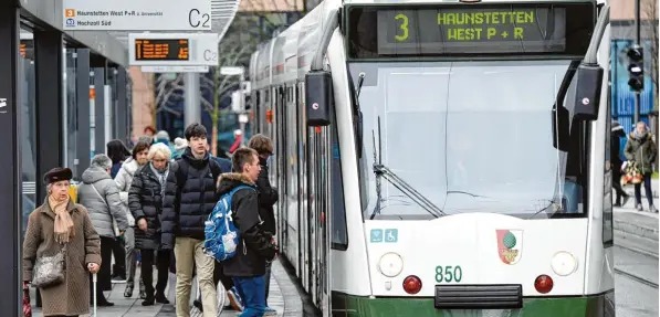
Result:
{"label": "tram's front destination display reading 3 Haunstetten West P+R", "polygon": [[378,56],[579,54],[588,46],[595,8],[588,3],[370,6],[352,8],[348,20],[355,25],[348,36],[352,50]]}

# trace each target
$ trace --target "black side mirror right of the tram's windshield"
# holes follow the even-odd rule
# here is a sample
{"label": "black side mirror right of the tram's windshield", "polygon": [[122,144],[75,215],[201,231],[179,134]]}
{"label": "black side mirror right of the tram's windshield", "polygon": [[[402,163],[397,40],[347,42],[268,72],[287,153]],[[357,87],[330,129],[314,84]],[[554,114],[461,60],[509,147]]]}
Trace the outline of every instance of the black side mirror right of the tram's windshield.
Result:
{"label": "black side mirror right of the tram's windshield", "polygon": [[577,67],[575,109],[573,119],[593,121],[598,118],[600,91],[603,89],[603,67],[598,64],[580,64]]}

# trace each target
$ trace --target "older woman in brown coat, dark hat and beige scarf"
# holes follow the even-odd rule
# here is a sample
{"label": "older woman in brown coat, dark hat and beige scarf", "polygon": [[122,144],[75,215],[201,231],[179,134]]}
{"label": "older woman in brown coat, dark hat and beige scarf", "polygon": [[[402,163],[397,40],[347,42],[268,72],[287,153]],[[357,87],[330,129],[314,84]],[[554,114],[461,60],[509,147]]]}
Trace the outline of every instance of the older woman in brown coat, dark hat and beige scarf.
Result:
{"label": "older woman in brown coat, dark hat and beige scarf", "polygon": [[57,254],[64,245],[64,282],[40,288],[43,316],[80,316],[90,313],[90,274],[101,265],[101,241],[87,210],[69,198],[72,172],[54,168],[45,173],[48,198],[28,220],[23,241],[23,282],[32,282],[34,263]]}

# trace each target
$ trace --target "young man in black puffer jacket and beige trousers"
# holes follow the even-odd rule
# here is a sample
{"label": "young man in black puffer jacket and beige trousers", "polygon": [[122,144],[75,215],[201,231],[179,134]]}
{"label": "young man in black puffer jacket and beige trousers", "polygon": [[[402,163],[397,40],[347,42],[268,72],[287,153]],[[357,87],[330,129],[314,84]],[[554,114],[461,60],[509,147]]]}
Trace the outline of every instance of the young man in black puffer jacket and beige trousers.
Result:
{"label": "young man in black puffer jacket and beige trousers", "polygon": [[213,258],[203,253],[205,221],[217,202],[216,180],[221,173],[207,151],[207,129],[191,124],[185,131],[188,148],[171,163],[163,199],[161,244],[176,258],[177,317],[190,316],[192,270],[202,293],[205,317],[218,315]]}

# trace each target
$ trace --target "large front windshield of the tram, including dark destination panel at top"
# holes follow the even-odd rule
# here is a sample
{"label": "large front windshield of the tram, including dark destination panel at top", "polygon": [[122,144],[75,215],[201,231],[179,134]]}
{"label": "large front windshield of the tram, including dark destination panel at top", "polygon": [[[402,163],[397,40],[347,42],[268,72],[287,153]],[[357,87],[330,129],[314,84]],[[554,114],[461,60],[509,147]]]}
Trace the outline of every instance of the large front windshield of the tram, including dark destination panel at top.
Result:
{"label": "large front windshield of the tram, including dark destination panel at top", "polygon": [[[512,10],[516,15],[515,9]],[[380,13],[371,17],[378,20]],[[402,17],[396,11],[387,14]],[[408,12],[407,15],[420,17],[421,13]],[[450,15],[442,17],[449,19]],[[413,24],[410,20],[409,30],[413,25],[423,27],[421,19]],[[557,24],[555,30],[565,27]],[[349,49],[353,59],[348,70],[353,82],[358,83],[358,76],[364,76],[358,99],[364,135],[360,176],[367,184],[367,197],[363,197],[368,201],[364,205],[367,216],[433,218],[428,208],[422,208],[419,199],[415,199],[415,193],[401,190],[397,181],[376,176],[375,155],[377,162],[381,161],[441,214],[494,212],[526,219],[583,213],[578,207],[583,200],[579,182],[567,172],[568,154],[553,146],[552,110],[557,92],[572,61],[579,59],[572,55],[586,51],[586,46],[567,45],[567,41],[576,39],[566,39],[565,31],[556,31],[559,35],[555,38],[543,38],[548,41],[547,45],[542,38],[535,38],[532,43],[535,49],[531,49],[530,54],[514,52],[525,43],[511,42],[500,47],[494,57],[471,61],[453,57],[410,61],[409,57],[415,54],[482,56],[476,51],[490,50],[490,44],[476,43],[470,51],[458,50],[449,42],[444,45],[428,40],[406,45],[400,51],[407,57],[405,61],[379,55],[385,51],[396,55],[396,45],[384,49],[374,44],[371,52],[365,51],[368,46]],[[349,46],[359,40],[356,32],[353,36],[349,32]],[[408,31],[408,35],[410,33],[413,32]],[[588,43],[588,38],[584,40]],[[454,51],[443,53],[443,50]],[[502,54],[513,59],[502,57]],[[516,54],[520,56],[515,57]],[[552,57],[545,59],[544,54]],[[566,99],[570,99],[570,88]]]}

